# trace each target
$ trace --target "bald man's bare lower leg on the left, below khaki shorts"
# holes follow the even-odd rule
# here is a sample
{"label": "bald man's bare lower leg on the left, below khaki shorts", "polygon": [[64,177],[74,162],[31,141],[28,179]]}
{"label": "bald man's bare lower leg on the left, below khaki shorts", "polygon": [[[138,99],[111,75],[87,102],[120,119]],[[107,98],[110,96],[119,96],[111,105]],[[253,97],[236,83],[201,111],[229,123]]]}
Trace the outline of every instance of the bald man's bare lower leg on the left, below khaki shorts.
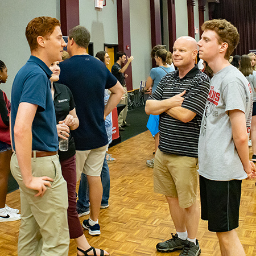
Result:
{"label": "bald man's bare lower leg on the left, below khaki shorts", "polygon": [[174,221],[176,232],[186,232],[185,226],[185,213],[184,209],[179,205],[179,199],[176,197],[166,196],[167,202],[169,204],[169,209],[172,217],[172,221]]}

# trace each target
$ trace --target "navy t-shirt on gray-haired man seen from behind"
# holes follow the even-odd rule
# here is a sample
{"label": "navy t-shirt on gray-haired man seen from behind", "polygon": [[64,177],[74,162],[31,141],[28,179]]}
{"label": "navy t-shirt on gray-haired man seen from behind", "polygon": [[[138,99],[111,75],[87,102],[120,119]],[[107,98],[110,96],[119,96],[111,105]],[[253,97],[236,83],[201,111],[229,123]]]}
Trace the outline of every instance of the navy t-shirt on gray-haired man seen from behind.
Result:
{"label": "navy t-shirt on gray-haired man seen from behind", "polygon": [[76,150],[108,144],[104,121],[104,90],[117,84],[105,64],[90,55],[75,55],[60,63],[60,84],[73,94],[79,127],[71,131]]}

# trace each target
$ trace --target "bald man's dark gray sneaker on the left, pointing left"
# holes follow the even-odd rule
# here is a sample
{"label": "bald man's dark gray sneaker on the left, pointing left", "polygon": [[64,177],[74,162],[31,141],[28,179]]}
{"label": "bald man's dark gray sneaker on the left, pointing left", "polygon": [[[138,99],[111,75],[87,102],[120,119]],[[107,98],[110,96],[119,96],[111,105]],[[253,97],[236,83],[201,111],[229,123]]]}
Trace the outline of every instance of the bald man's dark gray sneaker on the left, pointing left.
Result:
{"label": "bald man's dark gray sneaker on the left, pointing left", "polygon": [[172,238],[156,245],[156,249],[162,253],[171,253],[172,251],[182,250],[186,240],[180,239],[177,234],[171,234]]}

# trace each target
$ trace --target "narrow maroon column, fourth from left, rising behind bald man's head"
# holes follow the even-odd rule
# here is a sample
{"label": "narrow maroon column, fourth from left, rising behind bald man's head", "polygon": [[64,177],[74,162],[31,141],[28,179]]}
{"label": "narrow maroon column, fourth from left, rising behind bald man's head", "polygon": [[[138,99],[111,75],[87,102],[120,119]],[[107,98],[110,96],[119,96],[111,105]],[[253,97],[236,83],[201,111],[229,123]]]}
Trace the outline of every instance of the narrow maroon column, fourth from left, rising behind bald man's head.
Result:
{"label": "narrow maroon column, fourth from left, rising behind bald man's head", "polygon": [[172,46],[176,40],[176,15],[175,0],[168,1],[168,28],[169,28],[169,51],[172,52]]}

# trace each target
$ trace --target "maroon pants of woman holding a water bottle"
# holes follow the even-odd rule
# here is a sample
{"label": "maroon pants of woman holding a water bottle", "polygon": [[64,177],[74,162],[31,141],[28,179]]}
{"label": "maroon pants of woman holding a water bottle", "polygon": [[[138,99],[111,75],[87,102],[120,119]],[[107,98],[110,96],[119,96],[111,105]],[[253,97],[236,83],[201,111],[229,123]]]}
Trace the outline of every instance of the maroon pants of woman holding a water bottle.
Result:
{"label": "maroon pants of woman holding a water bottle", "polygon": [[81,237],[82,226],[76,211],[76,156],[60,161],[62,175],[68,186],[68,226],[71,239]]}

